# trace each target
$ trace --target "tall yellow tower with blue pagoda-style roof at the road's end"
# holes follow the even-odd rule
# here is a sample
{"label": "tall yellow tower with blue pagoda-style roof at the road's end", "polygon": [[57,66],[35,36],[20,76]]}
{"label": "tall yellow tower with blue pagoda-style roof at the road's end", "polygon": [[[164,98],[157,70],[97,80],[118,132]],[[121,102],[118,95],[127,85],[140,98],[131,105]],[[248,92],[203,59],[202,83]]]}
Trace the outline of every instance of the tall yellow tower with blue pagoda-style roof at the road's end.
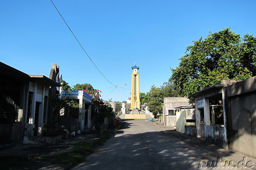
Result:
{"label": "tall yellow tower with blue pagoda-style roof at the road's end", "polygon": [[138,66],[132,67],[132,92],[131,92],[131,110],[132,114],[139,114],[137,110],[140,109],[140,81],[139,81],[139,73],[138,70],[140,68]]}

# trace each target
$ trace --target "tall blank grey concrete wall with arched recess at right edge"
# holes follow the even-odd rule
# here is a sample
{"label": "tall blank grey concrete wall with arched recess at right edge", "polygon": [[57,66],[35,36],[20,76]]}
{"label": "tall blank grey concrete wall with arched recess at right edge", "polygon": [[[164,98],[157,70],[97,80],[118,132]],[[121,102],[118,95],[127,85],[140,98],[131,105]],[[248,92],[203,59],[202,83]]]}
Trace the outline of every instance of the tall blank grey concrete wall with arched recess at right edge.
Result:
{"label": "tall blank grey concrete wall with arched recess at right edge", "polygon": [[[226,87],[228,149],[256,157],[256,77]],[[253,148],[253,149],[252,149]]]}

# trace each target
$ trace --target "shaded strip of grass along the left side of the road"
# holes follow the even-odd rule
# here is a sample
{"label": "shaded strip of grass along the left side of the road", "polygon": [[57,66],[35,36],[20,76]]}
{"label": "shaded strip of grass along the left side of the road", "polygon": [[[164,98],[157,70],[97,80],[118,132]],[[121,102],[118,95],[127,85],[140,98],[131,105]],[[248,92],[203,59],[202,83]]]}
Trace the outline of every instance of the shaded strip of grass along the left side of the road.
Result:
{"label": "shaded strip of grass along the left side of the road", "polygon": [[109,137],[110,134],[108,133],[106,135],[102,135],[100,138],[92,142],[78,142],[74,145],[72,149],[58,156],[44,156],[34,158],[2,156],[0,158],[0,167],[3,170],[20,169],[20,167],[26,167],[26,169],[33,169],[33,167],[36,166],[38,162],[50,162],[50,164],[77,164],[86,161],[85,156],[91,153],[96,146],[101,145]]}

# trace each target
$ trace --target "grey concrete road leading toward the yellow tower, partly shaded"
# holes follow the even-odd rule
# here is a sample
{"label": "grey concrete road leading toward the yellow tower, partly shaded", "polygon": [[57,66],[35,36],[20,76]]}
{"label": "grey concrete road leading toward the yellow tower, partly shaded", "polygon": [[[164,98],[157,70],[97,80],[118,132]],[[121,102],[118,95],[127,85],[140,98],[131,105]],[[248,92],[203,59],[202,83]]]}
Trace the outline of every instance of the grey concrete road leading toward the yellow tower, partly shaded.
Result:
{"label": "grey concrete road leading toward the yellow tower, partly shaded", "polygon": [[[123,119],[122,128],[88,156],[86,162],[73,169],[198,169],[202,161],[216,160],[214,156],[166,133],[165,130],[169,129],[143,119]],[[204,168],[210,168],[210,164]]]}

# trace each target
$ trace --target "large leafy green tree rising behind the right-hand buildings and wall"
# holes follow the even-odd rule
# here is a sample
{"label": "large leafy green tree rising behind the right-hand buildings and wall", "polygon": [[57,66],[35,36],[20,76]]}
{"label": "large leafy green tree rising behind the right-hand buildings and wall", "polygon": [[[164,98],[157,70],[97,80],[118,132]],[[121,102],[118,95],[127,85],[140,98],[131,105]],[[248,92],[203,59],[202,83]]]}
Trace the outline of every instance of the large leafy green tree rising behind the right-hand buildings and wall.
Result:
{"label": "large leafy green tree rising behind the right-hand buildings and wall", "polygon": [[179,66],[171,68],[171,80],[180,96],[187,97],[221,80],[244,80],[256,75],[256,38],[252,35],[241,38],[227,28],[193,42],[179,59]]}

